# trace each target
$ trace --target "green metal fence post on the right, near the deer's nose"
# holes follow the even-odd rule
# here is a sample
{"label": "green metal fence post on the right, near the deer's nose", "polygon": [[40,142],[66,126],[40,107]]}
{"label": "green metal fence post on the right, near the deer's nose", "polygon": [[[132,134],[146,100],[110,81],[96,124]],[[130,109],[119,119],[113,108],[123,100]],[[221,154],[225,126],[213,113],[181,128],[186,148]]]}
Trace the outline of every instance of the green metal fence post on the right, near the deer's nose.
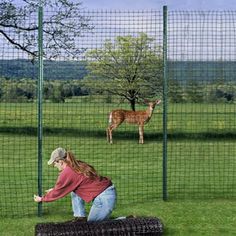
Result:
{"label": "green metal fence post on the right, near the deer's nose", "polygon": [[167,6],[163,7],[163,200],[167,200]]}

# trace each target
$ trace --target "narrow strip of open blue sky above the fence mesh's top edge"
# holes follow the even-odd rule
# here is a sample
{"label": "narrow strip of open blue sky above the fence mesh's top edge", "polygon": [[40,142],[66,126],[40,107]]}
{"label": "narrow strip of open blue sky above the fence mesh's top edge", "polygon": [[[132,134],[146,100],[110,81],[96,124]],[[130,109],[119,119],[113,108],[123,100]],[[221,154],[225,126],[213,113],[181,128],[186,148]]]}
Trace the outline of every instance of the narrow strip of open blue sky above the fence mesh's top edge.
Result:
{"label": "narrow strip of open blue sky above the fence mesh's top edge", "polygon": [[87,10],[236,10],[235,0],[83,0]]}

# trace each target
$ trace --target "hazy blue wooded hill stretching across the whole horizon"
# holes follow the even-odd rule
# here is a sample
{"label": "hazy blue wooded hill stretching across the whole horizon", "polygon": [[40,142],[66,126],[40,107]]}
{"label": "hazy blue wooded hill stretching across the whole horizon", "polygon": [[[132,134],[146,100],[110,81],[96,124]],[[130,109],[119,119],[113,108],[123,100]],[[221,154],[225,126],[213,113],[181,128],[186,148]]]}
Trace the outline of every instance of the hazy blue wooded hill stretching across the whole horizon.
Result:
{"label": "hazy blue wooded hill stretching across the whole horizon", "polygon": [[[169,61],[170,79],[186,81],[236,81],[236,61]],[[44,61],[44,78],[82,79],[88,71],[85,61]],[[30,60],[0,60],[0,77],[37,78],[37,63]]]}

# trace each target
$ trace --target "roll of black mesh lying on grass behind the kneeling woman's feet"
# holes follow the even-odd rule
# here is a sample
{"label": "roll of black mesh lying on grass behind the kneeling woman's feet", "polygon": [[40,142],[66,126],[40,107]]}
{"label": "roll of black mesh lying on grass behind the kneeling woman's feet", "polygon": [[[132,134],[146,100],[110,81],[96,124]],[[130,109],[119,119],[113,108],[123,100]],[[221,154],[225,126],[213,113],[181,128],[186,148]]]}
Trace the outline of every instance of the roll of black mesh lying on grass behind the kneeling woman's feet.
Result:
{"label": "roll of black mesh lying on grass behind the kneeling woman's feet", "polygon": [[36,236],[135,236],[162,235],[163,224],[158,218],[130,218],[102,222],[40,223],[35,226]]}

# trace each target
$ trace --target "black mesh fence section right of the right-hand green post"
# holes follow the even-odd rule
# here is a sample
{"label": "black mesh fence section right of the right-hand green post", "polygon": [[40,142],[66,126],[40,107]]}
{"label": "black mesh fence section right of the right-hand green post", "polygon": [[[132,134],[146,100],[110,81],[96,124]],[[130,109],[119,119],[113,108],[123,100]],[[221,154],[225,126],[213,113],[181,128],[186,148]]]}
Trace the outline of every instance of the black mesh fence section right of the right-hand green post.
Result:
{"label": "black mesh fence section right of the right-hand green post", "polygon": [[236,12],[168,15],[168,193],[235,197]]}

